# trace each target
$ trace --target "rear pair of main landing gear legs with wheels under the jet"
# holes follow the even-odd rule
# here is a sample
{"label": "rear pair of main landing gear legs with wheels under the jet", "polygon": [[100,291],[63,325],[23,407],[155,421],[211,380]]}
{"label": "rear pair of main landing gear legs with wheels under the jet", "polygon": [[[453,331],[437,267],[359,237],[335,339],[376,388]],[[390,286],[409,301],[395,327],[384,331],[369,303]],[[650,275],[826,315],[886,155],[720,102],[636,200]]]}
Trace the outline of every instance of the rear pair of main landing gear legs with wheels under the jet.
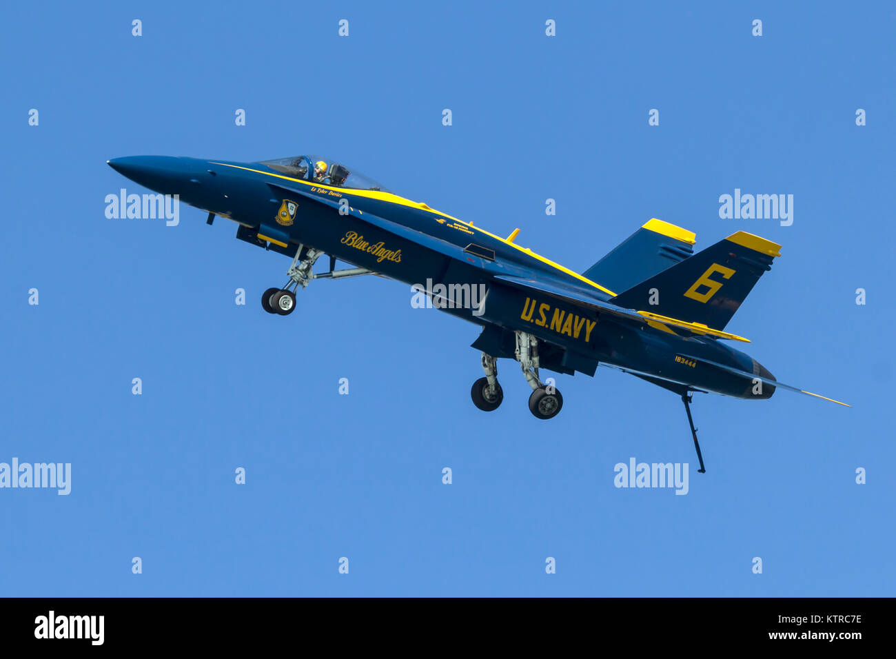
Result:
{"label": "rear pair of main landing gear legs with wheels under the jet", "polygon": [[[529,397],[530,412],[537,419],[556,417],[563,408],[563,396],[555,386],[545,386],[538,377],[538,339],[532,334],[518,331],[513,356],[520,362],[522,375],[532,387],[532,394]],[[491,412],[504,400],[504,392],[498,384],[497,360],[483,352],[482,369],[486,372],[486,377],[480,377],[473,383],[470,397],[480,410]]]}

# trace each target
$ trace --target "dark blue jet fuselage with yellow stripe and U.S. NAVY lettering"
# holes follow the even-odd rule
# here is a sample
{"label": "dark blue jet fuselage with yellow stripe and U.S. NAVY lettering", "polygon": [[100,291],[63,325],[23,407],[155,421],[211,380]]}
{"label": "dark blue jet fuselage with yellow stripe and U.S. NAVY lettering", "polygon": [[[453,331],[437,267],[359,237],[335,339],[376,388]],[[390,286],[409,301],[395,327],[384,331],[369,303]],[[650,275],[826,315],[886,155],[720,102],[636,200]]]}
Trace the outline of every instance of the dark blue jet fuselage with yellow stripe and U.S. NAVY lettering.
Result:
{"label": "dark blue jet fuselage with yellow stripe and U.S. NAVY lettering", "polygon": [[[618,292],[517,246],[511,238],[426,204],[383,191],[289,177],[260,163],[136,156],[109,164],[142,186],[179,195],[186,204],[238,222],[242,235],[237,237],[284,255],[292,256],[299,245],[313,246],[412,286],[426,288],[429,281],[454,290],[484,287],[486,298],[477,308],[452,308],[450,299],[441,300],[445,306],[440,308],[486,327],[474,346],[495,357],[513,358],[513,333],[522,331],[546,344],[541,366],[562,373],[593,375],[602,362],[645,379],[657,377],[656,384],[673,391],[696,389],[742,398],[768,398],[774,392],[773,386],[760,386],[757,393],[755,383],[690,359],[771,377],[748,355],[715,338],[633,325],[587,305],[533,294],[497,279],[556,282],[600,302]],[[296,204],[292,214],[285,210],[288,202]]]}

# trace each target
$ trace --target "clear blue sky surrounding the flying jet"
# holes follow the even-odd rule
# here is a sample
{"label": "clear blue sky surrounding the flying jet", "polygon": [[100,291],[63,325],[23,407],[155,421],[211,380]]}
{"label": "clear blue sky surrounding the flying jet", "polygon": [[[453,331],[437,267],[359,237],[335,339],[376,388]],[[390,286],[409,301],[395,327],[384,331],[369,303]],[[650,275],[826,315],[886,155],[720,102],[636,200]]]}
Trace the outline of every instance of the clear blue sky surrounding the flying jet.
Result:
{"label": "clear blue sky surrounding the flying jet", "polygon": [[[71,463],[72,492],[0,490],[0,594],[893,593],[892,4],[2,12],[0,462]],[[698,248],[779,242],[729,331],[781,381],[855,406],[697,395],[698,474],[658,387],[557,377],[564,410],[537,421],[502,361],[504,404],[479,412],[476,327],[411,308],[407,286],[314,282],[268,316],[289,259],[232,223],[104,215],[105,195],[144,192],[110,158],[303,152],[519,227],[579,272],[651,217]],[[735,188],[794,195],[793,225],[719,219]],[[690,491],[616,489],[632,456],[689,463]]]}

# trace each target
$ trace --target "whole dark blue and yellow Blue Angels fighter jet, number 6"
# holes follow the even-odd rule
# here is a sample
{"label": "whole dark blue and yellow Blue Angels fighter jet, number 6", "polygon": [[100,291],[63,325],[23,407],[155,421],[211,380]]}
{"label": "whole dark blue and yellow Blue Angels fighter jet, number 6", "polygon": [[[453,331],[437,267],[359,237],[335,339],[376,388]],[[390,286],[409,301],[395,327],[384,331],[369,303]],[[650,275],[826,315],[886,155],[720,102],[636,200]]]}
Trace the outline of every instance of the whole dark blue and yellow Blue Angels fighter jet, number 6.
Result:
{"label": "whole dark blue and yellow Blue Angels fighter jet, number 6", "polygon": [[[576,273],[472,222],[395,195],[339,162],[304,155],[260,162],[134,156],[109,160],[125,177],[215,217],[237,222],[237,238],[292,258],[288,280],[265,290],[262,307],[289,316],[314,279],[378,274],[410,284],[427,304],[481,326],[472,347],[485,376],[473,403],[487,412],[504,399],[497,360],[519,362],[538,419],[560,412],[563,396],[541,370],[593,376],[599,364],[681,396],[694,392],[770,398],[775,379],[726,341],[724,331],[780,245],[737,231],[694,253],[695,236],[651,219],[583,273]],[[320,256],[325,273],[314,273]],[[336,269],[336,260],[352,267]]]}

